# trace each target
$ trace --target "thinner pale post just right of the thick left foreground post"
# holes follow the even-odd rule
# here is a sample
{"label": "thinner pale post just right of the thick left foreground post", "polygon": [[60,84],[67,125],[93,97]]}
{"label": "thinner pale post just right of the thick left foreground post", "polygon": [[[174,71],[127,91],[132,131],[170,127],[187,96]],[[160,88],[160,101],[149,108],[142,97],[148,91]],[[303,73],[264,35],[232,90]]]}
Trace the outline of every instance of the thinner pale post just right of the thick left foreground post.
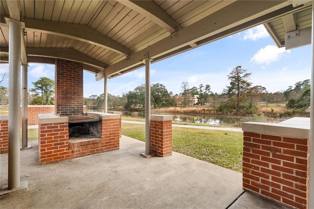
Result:
{"label": "thinner pale post just right of the thick left foreground post", "polygon": [[27,64],[22,65],[22,149],[27,146]]}

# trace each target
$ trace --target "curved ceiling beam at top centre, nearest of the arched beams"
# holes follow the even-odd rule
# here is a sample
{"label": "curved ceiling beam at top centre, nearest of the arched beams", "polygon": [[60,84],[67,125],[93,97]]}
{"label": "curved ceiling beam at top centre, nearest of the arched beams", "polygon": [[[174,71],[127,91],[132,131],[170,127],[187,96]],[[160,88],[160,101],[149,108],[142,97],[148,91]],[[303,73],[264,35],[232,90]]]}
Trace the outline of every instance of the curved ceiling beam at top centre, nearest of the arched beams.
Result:
{"label": "curved ceiling beam at top centre, nearest of the arched beams", "polygon": [[165,28],[170,33],[178,31],[182,27],[172,19],[153,0],[119,0],[120,3],[149,18],[157,25]]}

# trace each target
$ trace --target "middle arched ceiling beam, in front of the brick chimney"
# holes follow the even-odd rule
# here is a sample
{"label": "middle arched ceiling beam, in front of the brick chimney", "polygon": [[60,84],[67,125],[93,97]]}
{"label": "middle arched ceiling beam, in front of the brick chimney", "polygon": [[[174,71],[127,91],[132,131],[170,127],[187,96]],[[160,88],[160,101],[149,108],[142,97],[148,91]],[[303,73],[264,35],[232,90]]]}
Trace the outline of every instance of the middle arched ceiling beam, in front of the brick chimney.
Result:
{"label": "middle arched ceiling beam, in front of the brick chimney", "polygon": [[131,51],[128,48],[108,38],[103,33],[98,32],[90,26],[30,18],[25,18],[24,22],[27,31],[38,31],[76,39],[102,48],[110,49],[125,56],[129,56],[131,54]]}

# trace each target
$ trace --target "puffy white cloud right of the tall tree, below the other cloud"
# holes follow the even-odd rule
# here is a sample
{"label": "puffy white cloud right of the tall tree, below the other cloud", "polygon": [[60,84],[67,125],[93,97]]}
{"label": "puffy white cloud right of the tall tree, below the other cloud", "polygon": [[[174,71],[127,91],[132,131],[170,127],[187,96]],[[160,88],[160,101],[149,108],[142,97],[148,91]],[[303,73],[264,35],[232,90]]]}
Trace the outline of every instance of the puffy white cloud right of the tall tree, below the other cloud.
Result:
{"label": "puffy white cloud right of the tall tree, below the other cloud", "polygon": [[285,48],[278,48],[274,45],[267,45],[254,54],[254,56],[251,58],[251,62],[268,65],[271,62],[277,61],[280,59],[280,57],[287,53],[290,53],[290,50],[286,51]]}

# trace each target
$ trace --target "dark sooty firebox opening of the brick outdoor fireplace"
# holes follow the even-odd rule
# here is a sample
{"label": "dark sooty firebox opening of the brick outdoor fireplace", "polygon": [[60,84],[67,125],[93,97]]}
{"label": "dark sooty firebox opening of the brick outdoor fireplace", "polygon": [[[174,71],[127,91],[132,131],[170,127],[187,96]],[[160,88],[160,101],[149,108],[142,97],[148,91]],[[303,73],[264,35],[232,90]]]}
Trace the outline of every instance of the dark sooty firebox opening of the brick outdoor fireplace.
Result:
{"label": "dark sooty firebox opening of the brick outdoor fireplace", "polygon": [[69,139],[70,140],[101,138],[101,130],[102,130],[102,121],[99,119],[86,117],[86,116],[70,116],[69,117]]}

